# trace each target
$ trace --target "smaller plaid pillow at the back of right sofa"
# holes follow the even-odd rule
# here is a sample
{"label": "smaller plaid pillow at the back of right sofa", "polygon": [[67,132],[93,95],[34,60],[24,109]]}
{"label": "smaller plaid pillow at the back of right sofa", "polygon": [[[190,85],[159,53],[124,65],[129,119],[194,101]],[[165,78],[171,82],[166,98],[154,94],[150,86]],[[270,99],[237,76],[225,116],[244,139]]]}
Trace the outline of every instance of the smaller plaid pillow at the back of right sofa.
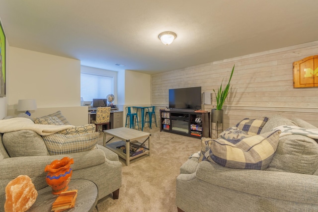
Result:
{"label": "smaller plaid pillow at the back of right sofa", "polygon": [[239,128],[242,131],[245,131],[249,135],[259,135],[260,131],[268,121],[267,117],[261,117],[258,119],[249,119],[245,118],[242,121],[240,121],[236,127]]}

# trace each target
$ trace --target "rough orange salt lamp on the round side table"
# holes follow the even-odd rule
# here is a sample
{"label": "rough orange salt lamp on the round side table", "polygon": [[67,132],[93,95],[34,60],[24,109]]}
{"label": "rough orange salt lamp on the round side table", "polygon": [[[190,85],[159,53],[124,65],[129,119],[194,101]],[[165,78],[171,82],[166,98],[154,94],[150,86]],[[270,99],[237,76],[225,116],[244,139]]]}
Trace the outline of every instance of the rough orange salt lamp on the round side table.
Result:
{"label": "rough orange salt lamp on the round side table", "polygon": [[27,175],[19,175],[5,187],[5,212],[25,212],[35,202],[38,192]]}

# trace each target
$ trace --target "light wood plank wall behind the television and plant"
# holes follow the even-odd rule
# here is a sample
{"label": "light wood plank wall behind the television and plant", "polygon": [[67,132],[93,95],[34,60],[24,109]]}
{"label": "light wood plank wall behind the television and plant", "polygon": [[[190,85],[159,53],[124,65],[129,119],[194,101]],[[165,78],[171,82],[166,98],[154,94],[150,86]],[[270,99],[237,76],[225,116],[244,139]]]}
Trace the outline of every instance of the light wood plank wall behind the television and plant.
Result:
{"label": "light wood plank wall behind the television and plant", "polygon": [[[171,88],[201,86],[202,92],[218,89],[224,78],[228,82],[232,67],[231,93],[224,106],[224,129],[243,118],[270,117],[301,118],[318,127],[318,87],[293,87],[293,62],[318,55],[318,41],[241,56],[209,64],[167,71],[151,76],[151,104],[159,109],[168,106]],[[202,105],[203,110],[215,108]]]}

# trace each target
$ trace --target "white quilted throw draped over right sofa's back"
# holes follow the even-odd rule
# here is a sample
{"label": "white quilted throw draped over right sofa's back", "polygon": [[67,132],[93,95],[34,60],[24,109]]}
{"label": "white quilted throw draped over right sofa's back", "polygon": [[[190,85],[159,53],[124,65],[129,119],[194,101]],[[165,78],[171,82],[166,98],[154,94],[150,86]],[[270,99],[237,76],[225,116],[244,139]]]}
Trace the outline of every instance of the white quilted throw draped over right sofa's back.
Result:
{"label": "white quilted throw draped over right sofa's back", "polygon": [[287,136],[287,135],[302,135],[307,136],[312,139],[318,139],[318,129],[305,129],[300,128],[298,126],[289,126],[289,125],[282,125],[274,128],[273,130],[280,130],[280,137]]}

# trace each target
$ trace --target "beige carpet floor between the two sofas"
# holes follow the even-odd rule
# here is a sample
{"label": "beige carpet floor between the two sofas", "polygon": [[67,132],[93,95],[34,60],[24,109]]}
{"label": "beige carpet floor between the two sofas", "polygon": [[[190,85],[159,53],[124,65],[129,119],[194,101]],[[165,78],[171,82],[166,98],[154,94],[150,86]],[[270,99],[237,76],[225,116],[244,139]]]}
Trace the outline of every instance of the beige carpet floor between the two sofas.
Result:
{"label": "beige carpet floor between the two sofas", "polygon": [[[160,132],[152,134],[151,156],[143,155],[127,167],[123,159],[122,187],[119,199],[108,195],[97,203],[98,212],[176,212],[175,188],[180,166],[200,150],[200,139]],[[99,139],[102,144],[102,136]],[[97,211],[94,210],[95,212]]]}

